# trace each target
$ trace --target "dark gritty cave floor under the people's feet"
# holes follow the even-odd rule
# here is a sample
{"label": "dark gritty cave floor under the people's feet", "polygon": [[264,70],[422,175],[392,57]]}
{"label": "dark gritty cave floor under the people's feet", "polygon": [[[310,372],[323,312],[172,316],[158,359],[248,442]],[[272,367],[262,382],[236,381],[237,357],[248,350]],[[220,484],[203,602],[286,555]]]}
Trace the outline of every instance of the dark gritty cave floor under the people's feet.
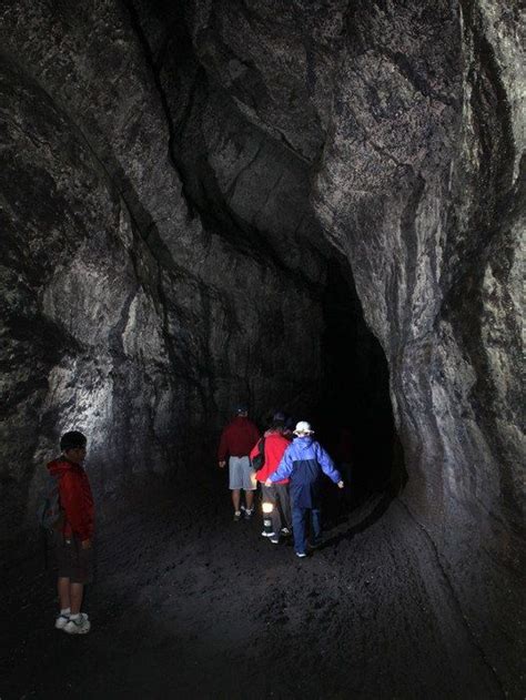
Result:
{"label": "dark gritty cave floor under the people's feet", "polygon": [[405,506],[344,505],[303,560],[231,520],[222,475],[110,506],[84,637],[54,630],[41,550],[11,548],[0,697],[503,697]]}

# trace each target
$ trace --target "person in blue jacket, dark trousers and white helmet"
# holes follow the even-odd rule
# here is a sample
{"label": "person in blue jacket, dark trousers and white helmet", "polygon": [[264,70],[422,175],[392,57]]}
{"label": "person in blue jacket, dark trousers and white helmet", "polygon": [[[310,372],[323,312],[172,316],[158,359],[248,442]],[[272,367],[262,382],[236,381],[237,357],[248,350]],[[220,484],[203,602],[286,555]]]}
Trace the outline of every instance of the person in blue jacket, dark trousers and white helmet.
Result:
{"label": "person in blue jacket, dark trousers and white helmet", "polygon": [[321,490],[323,474],[343,488],[344,484],[333,460],[311,436],[314,430],[306,420],[300,420],[294,430],[296,436],[286,448],[277,469],[269,476],[265,486],[274,481],[290,478],[292,499],[292,527],[294,530],[294,549],[297,557],[306,557],[306,518],[311,516],[311,545],[316,547],[321,542]]}

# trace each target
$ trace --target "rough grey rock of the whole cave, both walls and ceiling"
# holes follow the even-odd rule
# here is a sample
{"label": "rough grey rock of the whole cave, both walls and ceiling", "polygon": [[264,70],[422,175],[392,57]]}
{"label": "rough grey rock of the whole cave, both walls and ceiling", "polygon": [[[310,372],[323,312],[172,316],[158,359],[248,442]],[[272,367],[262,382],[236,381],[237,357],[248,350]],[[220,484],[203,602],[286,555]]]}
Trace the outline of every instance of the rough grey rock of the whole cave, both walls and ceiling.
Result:
{"label": "rough grey rock of the whole cave, both walls and ceiling", "polygon": [[102,493],[210,454],[240,395],[314,408],[327,306],[346,285],[355,313],[355,283],[408,471],[399,531],[426,530],[522,696],[518,12],[4,2],[4,503],[23,515],[70,425]]}

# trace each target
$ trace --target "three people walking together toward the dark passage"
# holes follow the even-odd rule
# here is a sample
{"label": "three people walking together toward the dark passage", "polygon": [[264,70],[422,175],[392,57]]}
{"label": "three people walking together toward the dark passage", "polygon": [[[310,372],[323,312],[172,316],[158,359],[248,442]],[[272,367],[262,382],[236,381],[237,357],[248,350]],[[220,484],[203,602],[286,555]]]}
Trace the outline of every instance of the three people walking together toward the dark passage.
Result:
{"label": "three people walking together toward the dark passage", "polygon": [[301,558],[307,556],[308,547],[315,548],[321,544],[323,474],[338,488],[344,487],[340,471],[313,435],[314,430],[306,420],[300,420],[291,430],[284,414],[276,413],[261,437],[249,418],[246,406],[239,406],[236,416],[221,435],[218,450],[221,468],[225,467],[229,458],[234,520],[253,517],[254,491],[260,484],[263,504],[272,506],[272,531],[263,530],[262,535],[277,545],[280,538],[290,536],[292,530],[294,551]]}

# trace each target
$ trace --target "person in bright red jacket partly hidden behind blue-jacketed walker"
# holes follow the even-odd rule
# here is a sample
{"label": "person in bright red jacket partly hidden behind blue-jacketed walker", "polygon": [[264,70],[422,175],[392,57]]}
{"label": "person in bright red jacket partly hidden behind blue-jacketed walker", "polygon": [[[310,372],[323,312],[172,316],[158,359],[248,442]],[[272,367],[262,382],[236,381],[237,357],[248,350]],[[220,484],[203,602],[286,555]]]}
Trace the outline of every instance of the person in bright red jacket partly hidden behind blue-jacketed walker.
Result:
{"label": "person in bright red jacket partly hidden behind blue-jacketed walker", "polygon": [[[263,530],[263,537],[269,537],[273,545],[280,542],[280,535],[289,536],[292,529],[292,515],[291,515],[291,498],[289,495],[289,479],[282,479],[272,484],[272,486],[265,486],[265,481],[271,474],[277,469],[277,465],[282,460],[285,449],[291,444],[291,440],[285,434],[285,416],[282,414],[275,414],[271,427],[264,435],[264,456],[265,460],[261,469],[255,473],[257,481],[261,484],[261,493],[263,496],[263,503],[272,504],[272,532],[265,532]],[[250,458],[254,459],[260,453],[260,442],[257,442],[251,454]]]}

